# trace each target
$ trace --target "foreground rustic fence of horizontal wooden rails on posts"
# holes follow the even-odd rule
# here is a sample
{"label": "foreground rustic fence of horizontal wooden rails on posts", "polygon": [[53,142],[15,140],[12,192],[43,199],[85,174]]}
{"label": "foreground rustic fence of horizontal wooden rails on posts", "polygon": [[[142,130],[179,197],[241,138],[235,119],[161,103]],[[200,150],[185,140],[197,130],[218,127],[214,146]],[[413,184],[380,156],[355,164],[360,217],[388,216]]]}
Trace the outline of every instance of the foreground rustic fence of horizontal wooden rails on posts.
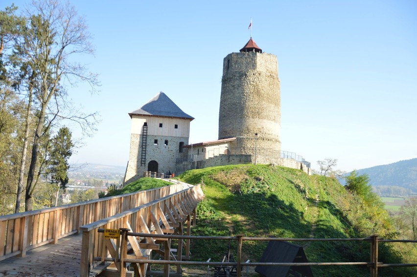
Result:
{"label": "foreground rustic fence of horizontal wooden rails on posts", "polygon": [[[120,239],[120,245],[126,245],[129,236],[134,237],[152,237],[154,239],[167,239],[167,244],[170,245],[172,239],[204,239],[204,240],[234,240],[237,243],[237,258],[235,262],[209,262],[209,261],[182,261],[180,258],[172,260],[172,256],[167,256],[164,260],[143,260],[131,258],[124,253],[125,248],[120,248],[120,255],[116,258],[106,258],[106,261],[118,263],[119,268],[126,266],[126,263],[132,264],[162,264],[165,266],[163,272],[164,277],[169,277],[171,274],[169,272],[169,265],[205,265],[205,266],[226,266],[226,267],[235,267],[235,274],[237,277],[241,277],[242,267],[243,266],[329,266],[329,265],[363,265],[370,267],[371,277],[378,276],[378,268],[381,267],[417,267],[417,263],[413,264],[384,264],[378,261],[378,244],[379,243],[392,243],[392,242],[406,242],[406,243],[416,243],[417,240],[402,240],[402,239],[379,239],[378,235],[372,235],[366,238],[282,238],[282,237],[244,237],[243,235],[237,236],[190,236],[190,235],[167,235],[167,234],[140,234],[133,232],[124,232],[122,233]],[[242,261],[242,244],[244,241],[368,241],[371,244],[371,255],[370,261],[363,262],[246,262]],[[131,240],[129,240],[131,241]],[[97,260],[100,257],[96,258]],[[120,274],[119,276],[124,277],[125,274]],[[172,274],[172,276],[177,276]]]}

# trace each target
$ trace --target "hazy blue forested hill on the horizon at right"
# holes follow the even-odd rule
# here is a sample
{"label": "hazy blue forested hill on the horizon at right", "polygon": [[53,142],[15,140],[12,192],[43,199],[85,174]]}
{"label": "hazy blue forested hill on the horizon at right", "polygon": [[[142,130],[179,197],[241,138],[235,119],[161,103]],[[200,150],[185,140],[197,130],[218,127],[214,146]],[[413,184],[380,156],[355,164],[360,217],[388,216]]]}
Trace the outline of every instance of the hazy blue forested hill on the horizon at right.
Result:
{"label": "hazy blue forested hill on the horizon at right", "polygon": [[397,186],[417,192],[417,158],[356,171],[368,174],[374,187]]}

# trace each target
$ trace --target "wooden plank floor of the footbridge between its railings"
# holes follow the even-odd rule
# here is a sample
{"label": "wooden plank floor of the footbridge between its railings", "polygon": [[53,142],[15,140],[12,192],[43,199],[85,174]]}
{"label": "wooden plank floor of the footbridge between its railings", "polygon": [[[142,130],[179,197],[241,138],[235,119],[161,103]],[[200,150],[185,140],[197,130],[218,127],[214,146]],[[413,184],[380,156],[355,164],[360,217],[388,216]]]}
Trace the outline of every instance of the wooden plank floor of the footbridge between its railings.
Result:
{"label": "wooden plank floor of the footbridge between its railings", "polygon": [[74,234],[0,261],[0,277],[77,277],[80,274],[82,234]]}

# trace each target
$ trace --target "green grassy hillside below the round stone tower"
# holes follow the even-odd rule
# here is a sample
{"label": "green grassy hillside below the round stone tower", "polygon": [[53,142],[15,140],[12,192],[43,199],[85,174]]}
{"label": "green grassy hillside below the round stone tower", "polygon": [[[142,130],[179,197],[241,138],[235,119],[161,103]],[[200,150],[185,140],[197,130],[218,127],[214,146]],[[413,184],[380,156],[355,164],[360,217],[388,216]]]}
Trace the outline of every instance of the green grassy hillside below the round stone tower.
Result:
{"label": "green grassy hillside below the round stone tower", "polygon": [[[237,165],[190,170],[181,180],[198,184],[205,199],[197,207],[194,235],[348,238],[371,234],[392,238],[388,213],[368,207],[337,180],[268,165]],[[370,260],[368,242],[303,242],[310,262]],[[235,249],[235,245],[231,245]],[[257,261],[265,242],[244,242],[243,259]],[[204,249],[204,251],[202,251]],[[193,259],[221,261],[227,241],[195,240]],[[380,244],[380,261],[401,263],[397,248]],[[313,266],[315,276],[369,276],[366,266]],[[380,276],[412,276],[410,269],[380,269]]]}

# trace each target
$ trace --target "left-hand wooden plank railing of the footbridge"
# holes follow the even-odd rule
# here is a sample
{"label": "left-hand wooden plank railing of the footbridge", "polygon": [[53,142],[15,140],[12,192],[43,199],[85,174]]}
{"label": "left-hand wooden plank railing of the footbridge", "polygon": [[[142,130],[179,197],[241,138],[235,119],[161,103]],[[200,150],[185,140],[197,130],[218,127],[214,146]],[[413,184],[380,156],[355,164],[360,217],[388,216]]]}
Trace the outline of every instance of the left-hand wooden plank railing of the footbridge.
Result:
{"label": "left-hand wooden plank railing of the footbridge", "polygon": [[121,213],[179,192],[191,185],[171,186],[133,192],[87,202],[0,216],[0,260],[25,256],[26,251],[75,234],[82,225]]}

